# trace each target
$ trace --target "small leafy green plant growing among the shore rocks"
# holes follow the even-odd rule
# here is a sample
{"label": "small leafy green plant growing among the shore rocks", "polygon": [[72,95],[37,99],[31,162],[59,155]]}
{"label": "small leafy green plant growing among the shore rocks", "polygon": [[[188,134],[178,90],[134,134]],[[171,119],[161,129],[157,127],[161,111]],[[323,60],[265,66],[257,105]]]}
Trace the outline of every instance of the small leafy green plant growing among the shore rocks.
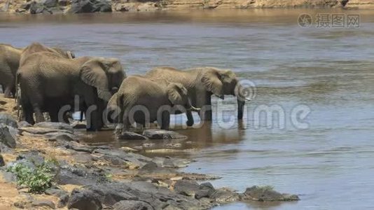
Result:
{"label": "small leafy green plant growing among the shore rocks", "polygon": [[15,174],[18,186],[26,186],[30,193],[43,193],[52,186],[54,177],[46,162],[36,166],[35,169],[19,163],[8,167],[8,172]]}

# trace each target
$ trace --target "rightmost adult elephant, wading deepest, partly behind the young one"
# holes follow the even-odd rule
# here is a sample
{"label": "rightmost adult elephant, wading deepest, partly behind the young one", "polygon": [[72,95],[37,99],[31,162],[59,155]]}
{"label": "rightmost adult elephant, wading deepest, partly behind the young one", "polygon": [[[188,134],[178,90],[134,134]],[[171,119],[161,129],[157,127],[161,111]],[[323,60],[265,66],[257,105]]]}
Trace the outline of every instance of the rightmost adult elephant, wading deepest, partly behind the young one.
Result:
{"label": "rightmost adult elephant, wading deepest, partly behind the young one", "polygon": [[[240,95],[242,85],[235,73],[230,70],[216,69],[214,67],[198,67],[179,70],[172,67],[157,67],[146,73],[148,78],[163,78],[169,82],[181,83],[188,90],[193,106],[205,108],[199,111],[201,120],[212,120],[211,96],[224,99],[225,95],[237,97],[237,118],[243,118],[245,96]],[[249,100],[249,99],[247,99]],[[193,125],[191,111],[187,113],[187,125]]]}

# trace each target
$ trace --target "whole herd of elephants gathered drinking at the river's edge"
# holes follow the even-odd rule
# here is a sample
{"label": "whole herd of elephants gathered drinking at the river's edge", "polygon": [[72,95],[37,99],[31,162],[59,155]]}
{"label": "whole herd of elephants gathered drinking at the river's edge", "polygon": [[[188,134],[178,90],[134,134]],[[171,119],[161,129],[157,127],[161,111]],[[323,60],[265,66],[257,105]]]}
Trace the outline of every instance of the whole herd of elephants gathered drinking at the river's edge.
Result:
{"label": "whole herd of elephants gathered drinking at the river's edge", "polygon": [[167,130],[170,114],[179,113],[186,113],[192,126],[192,111],[198,111],[201,120],[212,120],[212,94],[221,99],[236,96],[237,118],[242,119],[248,100],[230,70],[156,67],[142,76],[126,76],[116,58],[76,57],[41,43],[25,48],[0,44],[0,85],[4,97],[18,100],[27,123],[44,121],[43,113],[52,122],[68,123],[70,113],[81,111],[90,131],[107,122],[127,131],[134,123],[146,127],[155,121]]}

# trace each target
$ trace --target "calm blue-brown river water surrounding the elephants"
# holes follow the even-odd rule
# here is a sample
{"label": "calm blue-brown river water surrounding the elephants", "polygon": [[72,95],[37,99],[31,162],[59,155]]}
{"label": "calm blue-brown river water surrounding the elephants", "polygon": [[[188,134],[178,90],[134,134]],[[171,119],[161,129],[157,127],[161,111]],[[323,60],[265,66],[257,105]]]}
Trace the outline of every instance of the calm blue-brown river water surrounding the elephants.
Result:
{"label": "calm blue-brown river water surrounding the elephants", "polygon": [[[359,14],[361,25],[304,28],[297,23],[301,13],[313,19],[317,13]],[[183,170],[221,176],[212,181],[216,187],[244,191],[270,185],[301,200],[216,209],[374,208],[373,10],[0,14],[0,41],[19,47],[39,41],[77,56],[118,57],[127,75],[154,66],[232,69],[256,84],[242,122],[230,118],[235,111],[226,111],[223,118],[214,114],[212,123],[185,130],[179,116],[175,130],[188,140],[153,147],[177,148],[167,155],[197,160]],[[231,109],[236,101],[214,97],[213,104],[216,113],[217,107]],[[270,122],[256,117],[259,109],[272,105],[278,115]],[[295,118],[297,110],[305,115]],[[118,143],[111,132],[90,137],[86,140],[95,144],[137,144]]]}

